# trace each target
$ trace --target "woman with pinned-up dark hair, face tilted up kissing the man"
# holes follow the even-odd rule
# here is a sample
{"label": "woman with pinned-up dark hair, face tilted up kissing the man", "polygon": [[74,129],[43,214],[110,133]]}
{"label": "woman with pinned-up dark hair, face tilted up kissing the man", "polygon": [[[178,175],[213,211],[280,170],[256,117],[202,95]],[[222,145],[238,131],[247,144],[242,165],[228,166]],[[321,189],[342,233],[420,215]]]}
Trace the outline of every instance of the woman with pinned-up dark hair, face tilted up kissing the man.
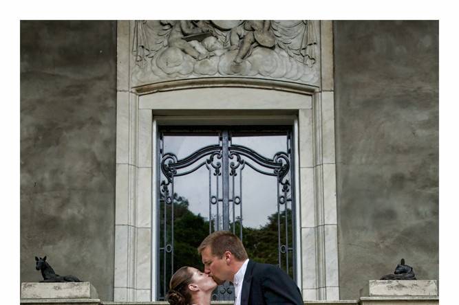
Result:
{"label": "woman with pinned-up dark hair, face tilted up kissing the man", "polygon": [[185,266],[172,275],[166,300],[171,305],[210,305],[216,286],[210,275]]}

